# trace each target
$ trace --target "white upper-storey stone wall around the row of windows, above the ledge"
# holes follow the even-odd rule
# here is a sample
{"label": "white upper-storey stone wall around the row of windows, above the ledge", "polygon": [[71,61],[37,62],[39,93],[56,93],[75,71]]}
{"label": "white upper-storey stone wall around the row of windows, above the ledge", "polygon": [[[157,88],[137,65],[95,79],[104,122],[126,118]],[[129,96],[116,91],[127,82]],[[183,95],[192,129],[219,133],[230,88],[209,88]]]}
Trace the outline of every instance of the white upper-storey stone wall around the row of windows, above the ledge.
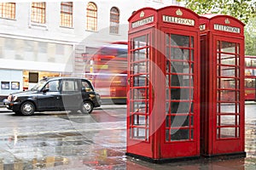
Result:
{"label": "white upper-storey stone wall around the row of windows, above the ledge", "polygon": [[[31,3],[16,3],[15,20],[0,18],[0,36],[12,35],[27,38],[43,38],[48,41],[76,43],[81,42],[91,34],[101,41],[120,41],[127,39],[128,19],[132,12],[143,7],[160,8],[171,5],[170,0],[94,0],[73,1],[73,28],[60,26],[61,1],[46,1],[46,23],[38,25],[30,21]],[[25,1],[26,2],[26,1]],[[52,3],[51,3],[52,2]],[[86,5],[96,3],[98,10],[98,31],[86,31]],[[119,8],[119,35],[109,34],[110,8]]]}

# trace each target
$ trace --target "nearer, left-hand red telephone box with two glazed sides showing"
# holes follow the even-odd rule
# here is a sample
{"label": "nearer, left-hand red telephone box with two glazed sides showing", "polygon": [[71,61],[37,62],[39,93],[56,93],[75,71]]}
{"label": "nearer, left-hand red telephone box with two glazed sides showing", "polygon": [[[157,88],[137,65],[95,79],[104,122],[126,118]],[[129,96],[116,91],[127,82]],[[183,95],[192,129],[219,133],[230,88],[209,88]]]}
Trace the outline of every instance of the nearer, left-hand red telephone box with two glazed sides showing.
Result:
{"label": "nearer, left-hand red telephone box with two glazed sides showing", "polygon": [[141,8],[129,19],[126,155],[200,156],[199,15]]}

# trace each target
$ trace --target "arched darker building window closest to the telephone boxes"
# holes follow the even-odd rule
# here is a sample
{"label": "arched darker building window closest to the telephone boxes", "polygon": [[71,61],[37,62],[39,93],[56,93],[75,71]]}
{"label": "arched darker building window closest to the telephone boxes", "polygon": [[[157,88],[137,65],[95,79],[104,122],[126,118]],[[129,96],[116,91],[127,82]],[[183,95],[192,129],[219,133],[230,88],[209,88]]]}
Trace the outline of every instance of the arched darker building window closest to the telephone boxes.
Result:
{"label": "arched darker building window closest to the telephone boxes", "polygon": [[109,32],[112,34],[119,33],[119,9],[111,8],[110,9],[110,29]]}

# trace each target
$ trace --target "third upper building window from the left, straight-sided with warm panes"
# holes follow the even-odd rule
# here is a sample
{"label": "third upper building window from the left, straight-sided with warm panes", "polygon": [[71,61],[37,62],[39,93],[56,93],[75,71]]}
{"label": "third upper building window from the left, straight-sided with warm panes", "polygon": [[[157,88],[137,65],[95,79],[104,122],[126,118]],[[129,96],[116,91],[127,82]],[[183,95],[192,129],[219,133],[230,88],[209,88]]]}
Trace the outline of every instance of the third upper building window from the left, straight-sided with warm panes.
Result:
{"label": "third upper building window from the left, straight-sided with warm panes", "polygon": [[73,27],[73,3],[61,3],[61,26]]}

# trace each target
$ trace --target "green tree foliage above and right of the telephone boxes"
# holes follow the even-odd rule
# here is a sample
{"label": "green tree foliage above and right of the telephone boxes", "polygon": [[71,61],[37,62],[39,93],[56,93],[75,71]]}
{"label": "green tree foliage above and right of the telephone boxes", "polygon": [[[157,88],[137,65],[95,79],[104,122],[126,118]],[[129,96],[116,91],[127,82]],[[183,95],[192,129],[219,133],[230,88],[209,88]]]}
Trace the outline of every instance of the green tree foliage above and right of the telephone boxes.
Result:
{"label": "green tree foliage above and right of the telephone boxes", "polygon": [[245,26],[245,54],[256,55],[256,0],[177,0],[196,14],[227,14]]}

